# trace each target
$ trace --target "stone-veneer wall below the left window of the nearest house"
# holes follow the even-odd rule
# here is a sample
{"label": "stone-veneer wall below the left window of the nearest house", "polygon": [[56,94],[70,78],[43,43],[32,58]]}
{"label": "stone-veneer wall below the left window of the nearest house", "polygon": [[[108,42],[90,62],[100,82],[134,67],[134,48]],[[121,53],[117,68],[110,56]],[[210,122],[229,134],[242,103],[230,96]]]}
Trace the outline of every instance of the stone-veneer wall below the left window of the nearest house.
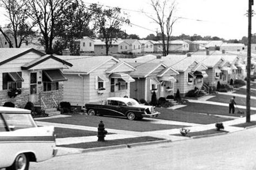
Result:
{"label": "stone-veneer wall below the left window of the nearest house", "polygon": [[15,104],[16,108],[24,108],[26,102],[28,102],[28,95],[30,91],[29,88],[22,88],[22,93],[13,98],[10,98],[7,93],[8,90],[0,91],[1,106],[3,106],[5,102],[12,102]]}

